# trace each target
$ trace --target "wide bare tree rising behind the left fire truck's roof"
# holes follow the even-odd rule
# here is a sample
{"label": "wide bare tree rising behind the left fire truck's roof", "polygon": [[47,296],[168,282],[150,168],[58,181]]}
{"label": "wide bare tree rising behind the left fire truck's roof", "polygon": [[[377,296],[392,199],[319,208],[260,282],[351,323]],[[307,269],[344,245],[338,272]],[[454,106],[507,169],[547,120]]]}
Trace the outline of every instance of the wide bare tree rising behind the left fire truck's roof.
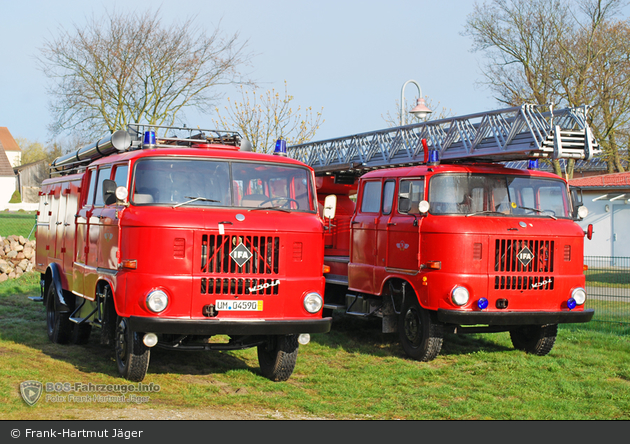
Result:
{"label": "wide bare tree rising behind the left fire truck's roof", "polygon": [[159,10],[111,12],[60,29],[40,50],[53,135],[100,135],[134,122],[172,125],[186,108],[209,112],[220,85],[247,83],[251,55],[238,33],[224,36],[188,19],[164,25]]}

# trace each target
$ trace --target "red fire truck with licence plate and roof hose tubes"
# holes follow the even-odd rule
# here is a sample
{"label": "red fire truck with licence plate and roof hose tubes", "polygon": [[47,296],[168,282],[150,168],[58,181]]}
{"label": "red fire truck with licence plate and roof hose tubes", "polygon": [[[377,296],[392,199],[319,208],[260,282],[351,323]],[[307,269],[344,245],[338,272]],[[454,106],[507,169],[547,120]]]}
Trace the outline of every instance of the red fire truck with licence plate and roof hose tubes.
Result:
{"label": "red fire truck with licence plate and roof hose tubes", "polygon": [[257,347],[265,377],[290,377],[331,325],[313,170],[243,142],[134,124],[52,163],[36,252],[51,341],[99,327],[132,381],[154,346]]}

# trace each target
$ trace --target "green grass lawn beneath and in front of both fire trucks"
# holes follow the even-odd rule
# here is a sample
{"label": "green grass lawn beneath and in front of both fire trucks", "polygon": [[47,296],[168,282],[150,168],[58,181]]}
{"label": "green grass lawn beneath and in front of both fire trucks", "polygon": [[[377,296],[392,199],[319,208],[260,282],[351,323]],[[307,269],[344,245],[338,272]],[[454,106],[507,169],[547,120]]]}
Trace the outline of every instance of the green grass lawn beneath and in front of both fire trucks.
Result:
{"label": "green grass lawn beneath and in front of both fire trucks", "polygon": [[[73,419],[81,405],[19,394],[26,380],[126,383],[112,350],[93,335],[85,346],[48,341],[45,310],[27,295],[38,278],[0,284],[0,418]],[[509,334],[447,335],[429,363],[405,357],[378,322],[337,317],[333,330],[300,347],[287,382],[259,374],[256,350],[154,349],[145,383],[159,384],[138,409],[229,409],[326,419],[630,419],[630,340],[587,325],[562,326],[548,356],[514,350]],[[97,418],[127,405],[91,404]],[[269,416],[272,417],[272,416]]]}

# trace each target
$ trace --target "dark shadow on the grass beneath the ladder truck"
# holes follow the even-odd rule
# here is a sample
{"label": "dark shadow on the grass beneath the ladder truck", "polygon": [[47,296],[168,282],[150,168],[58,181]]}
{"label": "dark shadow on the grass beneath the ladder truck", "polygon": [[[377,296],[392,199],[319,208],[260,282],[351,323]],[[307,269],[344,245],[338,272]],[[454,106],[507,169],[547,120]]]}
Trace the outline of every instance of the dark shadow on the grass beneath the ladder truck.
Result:
{"label": "dark shadow on the grass beneath the ladder truck", "polygon": [[[315,335],[313,342],[331,348],[341,348],[349,353],[407,358],[398,333],[382,333],[381,322],[380,318],[359,318],[335,312],[331,331]],[[498,353],[513,350],[511,347],[494,342],[491,335],[447,333],[444,336],[440,355],[463,355],[478,351]]]}

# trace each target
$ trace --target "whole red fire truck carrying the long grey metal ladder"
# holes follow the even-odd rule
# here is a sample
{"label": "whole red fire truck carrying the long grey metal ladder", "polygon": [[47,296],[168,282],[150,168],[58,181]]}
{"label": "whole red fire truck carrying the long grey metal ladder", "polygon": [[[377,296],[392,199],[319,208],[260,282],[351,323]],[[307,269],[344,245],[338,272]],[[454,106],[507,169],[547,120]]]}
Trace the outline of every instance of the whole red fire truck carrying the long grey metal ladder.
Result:
{"label": "whole red fire truck carrying the long grey metal ladder", "polygon": [[515,348],[549,353],[559,323],[593,316],[592,227],[574,222],[586,208],[567,182],[536,163],[597,152],[586,108],[535,106],[290,147],[317,176],[327,314],[381,317],[420,361],[448,332],[509,331]]}

